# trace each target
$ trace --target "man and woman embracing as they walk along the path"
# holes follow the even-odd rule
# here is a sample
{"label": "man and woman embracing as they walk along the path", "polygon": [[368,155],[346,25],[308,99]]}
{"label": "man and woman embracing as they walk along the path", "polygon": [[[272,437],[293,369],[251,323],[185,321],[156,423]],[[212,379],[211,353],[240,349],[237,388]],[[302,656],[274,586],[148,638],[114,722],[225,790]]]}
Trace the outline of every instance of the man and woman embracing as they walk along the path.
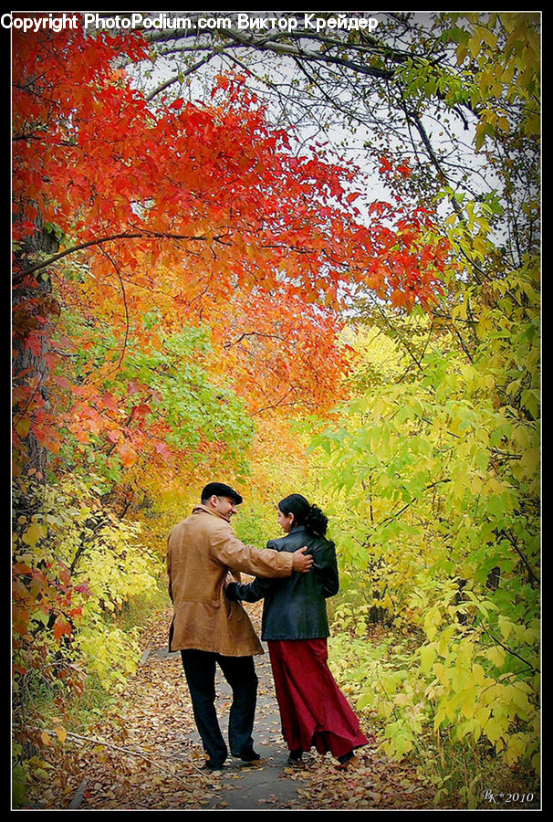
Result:
{"label": "man and woman embracing as they walk along the path", "polygon": [[[334,543],[327,518],[300,494],[278,503],[285,536],[266,550],[245,545],[230,518],[242,497],[228,485],[211,482],[202,504],[172,528],[167,569],[173,618],[169,647],[180,650],[205,767],[220,770],[228,750],[214,707],[218,664],[233,690],[228,737],[231,754],[255,762],[252,732],[257,676],[254,656],[263,648],[242,602],[265,598],[262,639],[275,679],[288,763],[300,765],[314,746],[339,767],[355,764],[354,751],[368,740],[327,664],[329,621],[326,599],[339,589]],[[240,572],[253,574],[250,585]]]}

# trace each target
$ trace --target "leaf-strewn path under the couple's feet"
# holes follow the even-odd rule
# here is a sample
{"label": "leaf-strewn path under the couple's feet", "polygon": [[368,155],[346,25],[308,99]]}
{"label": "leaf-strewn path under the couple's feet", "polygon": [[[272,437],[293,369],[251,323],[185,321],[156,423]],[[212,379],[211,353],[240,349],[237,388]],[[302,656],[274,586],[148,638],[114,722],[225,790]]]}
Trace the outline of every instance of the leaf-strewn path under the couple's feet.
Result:
{"label": "leaf-strewn path under the couple's feet", "polygon": [[[260,604],[249,607],[259,627]],[[229,759],[224,771],[201,770],[203,749],[179,654],[166,648],[168,615],[144,641],[141,664],[110,717],[53,746],[37,780],[35,808],[92,809],[361,809],[431,808],[433,792],[412,766],[389,761],[376,741],[360,752],[355,772],[337,770],[314,751],[301,771],[287,767],[268,654],[259,678],[254,740],[259,764]],[[217,712],[226,734],[231,691],[217,677]],[[370,736],[370,729],[364,727]]]}

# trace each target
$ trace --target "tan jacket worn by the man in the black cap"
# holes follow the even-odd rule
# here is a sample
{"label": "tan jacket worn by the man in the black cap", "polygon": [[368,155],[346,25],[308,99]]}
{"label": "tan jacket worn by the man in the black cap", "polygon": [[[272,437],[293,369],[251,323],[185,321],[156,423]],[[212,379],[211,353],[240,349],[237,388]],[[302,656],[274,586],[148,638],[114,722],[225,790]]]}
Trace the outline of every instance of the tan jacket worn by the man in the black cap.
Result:
{"label": "tan jacket worn by the man in the black cap", "polygon": [[224,594],[224,579],[229,569],[255,576],[291,576],[292,561],[292,553],[241,543],[225,517],[198,505],[172,528],[167,541],[173,604],[169,648],[198,648],[228,657],[262,654],[243,606]]}

